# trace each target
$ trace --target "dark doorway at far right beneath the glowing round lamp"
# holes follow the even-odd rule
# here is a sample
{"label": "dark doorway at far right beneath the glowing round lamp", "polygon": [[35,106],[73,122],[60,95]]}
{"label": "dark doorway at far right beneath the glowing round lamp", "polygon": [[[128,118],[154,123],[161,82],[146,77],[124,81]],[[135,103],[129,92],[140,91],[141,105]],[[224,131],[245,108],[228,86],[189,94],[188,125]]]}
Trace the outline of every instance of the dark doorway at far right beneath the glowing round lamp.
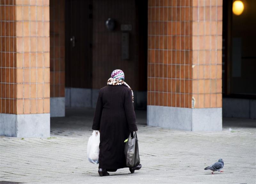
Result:
{"label": "dark doorway at far right beneath the glowing round lamp", "polygon": [[233,1],[223,1],[223,95],[256,98],[256,53],[254,48],[256,2],[242,1],[241,15],[232,12]]}

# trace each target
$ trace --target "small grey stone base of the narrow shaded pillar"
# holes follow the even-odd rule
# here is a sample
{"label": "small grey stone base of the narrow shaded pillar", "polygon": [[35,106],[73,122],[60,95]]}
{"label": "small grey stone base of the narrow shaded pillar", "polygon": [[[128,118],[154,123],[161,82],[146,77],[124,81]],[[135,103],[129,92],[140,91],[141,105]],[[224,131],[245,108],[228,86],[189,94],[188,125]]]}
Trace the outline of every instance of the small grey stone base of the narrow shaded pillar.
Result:
{"label": "small grey stone base of the narrow shaded pillar", "polygon": [[65,117],[65,97],[51,97],[50,100],[51,117]]}

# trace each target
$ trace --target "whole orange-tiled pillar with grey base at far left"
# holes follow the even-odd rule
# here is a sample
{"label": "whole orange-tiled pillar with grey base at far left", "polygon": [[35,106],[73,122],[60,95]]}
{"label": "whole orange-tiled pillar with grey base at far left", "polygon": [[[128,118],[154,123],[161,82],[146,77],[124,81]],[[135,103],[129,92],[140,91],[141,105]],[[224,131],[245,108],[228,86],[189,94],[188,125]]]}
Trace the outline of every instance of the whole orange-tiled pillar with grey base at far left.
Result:
{"label": "whole orange-tiled pillar with grey base at far left", "polygon": [[49,0],[1,1],[0,135],[50,136],[49,26]]}

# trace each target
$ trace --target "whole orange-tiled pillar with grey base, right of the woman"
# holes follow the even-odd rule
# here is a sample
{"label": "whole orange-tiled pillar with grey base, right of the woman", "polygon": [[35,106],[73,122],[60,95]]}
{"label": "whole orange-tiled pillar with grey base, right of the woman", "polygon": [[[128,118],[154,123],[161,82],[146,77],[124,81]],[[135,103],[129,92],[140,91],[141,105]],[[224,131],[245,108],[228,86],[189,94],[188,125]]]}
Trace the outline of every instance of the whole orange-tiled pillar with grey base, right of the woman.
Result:
{"label": "whole orange-tiled pillar with grey base, right of the woman", "polygon": [[222,130],[222,0],[149,0],[148,125]]}

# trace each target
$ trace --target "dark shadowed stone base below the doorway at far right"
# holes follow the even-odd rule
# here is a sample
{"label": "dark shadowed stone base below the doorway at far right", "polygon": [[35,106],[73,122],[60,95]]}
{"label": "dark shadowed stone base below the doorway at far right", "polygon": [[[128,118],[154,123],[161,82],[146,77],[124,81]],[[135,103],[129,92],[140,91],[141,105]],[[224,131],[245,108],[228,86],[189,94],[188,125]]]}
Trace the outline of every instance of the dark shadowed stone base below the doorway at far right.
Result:
{"label": "dark shadowed stone base below the doorway at far right", "polygon": [[223,117],[239,117],[256,119],[256,100],[223,98]]}

